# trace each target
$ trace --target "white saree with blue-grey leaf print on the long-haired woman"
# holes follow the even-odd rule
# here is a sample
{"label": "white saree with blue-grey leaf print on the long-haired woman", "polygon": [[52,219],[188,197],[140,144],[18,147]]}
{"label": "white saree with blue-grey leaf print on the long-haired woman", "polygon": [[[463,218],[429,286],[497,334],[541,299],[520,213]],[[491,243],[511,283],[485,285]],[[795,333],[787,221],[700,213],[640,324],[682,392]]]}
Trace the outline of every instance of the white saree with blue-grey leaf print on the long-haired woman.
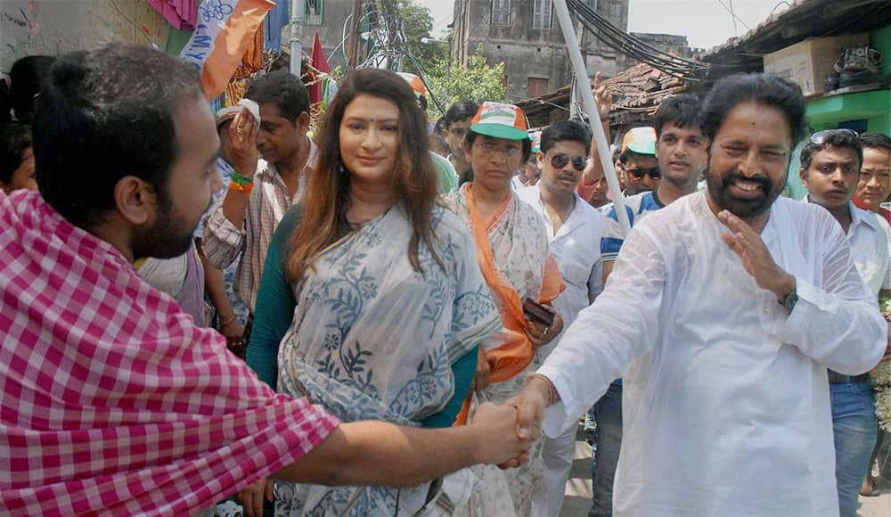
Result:
{"label": "white saree with blue-grey leaf print on the long-haired woman", "polygon": [[[434,211],[435,250],[423,274],[408,260],[412,227],[401,206],[334,243],[295,286],[297,308],[279,349],[279,390],[307,395],[343,422],[419,426],[454,395],[451,365],[501,327],[473,238]],[[411,515],[417,488],[277,483],[279,515]]]}

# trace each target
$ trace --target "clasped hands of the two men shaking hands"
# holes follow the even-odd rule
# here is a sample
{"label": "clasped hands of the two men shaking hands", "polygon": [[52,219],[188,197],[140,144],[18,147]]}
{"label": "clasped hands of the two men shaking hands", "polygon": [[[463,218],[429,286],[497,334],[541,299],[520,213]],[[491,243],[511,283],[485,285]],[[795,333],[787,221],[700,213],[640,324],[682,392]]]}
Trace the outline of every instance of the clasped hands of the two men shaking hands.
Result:
{"label": "clasped hands of the two men shaking hands", "polygon": [[542,434],[544,408],[552,402],[550,384],[532,376],[519,393],[500,406],[485,403],[477,408],[468,427],[481,433],[478,462],[503,469],[529,461],[529,447]]}

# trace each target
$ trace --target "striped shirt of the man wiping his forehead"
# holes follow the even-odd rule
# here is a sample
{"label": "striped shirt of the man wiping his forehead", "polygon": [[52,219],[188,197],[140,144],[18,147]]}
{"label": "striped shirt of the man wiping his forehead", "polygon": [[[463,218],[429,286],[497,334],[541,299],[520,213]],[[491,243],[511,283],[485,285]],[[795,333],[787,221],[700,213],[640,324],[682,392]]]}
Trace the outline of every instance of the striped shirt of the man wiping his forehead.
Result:
{"label": "striped shirt of the man wiping his forehead", "polygon": [[260,160],[254,178],[254,190],[250,193],[244,226],[237,228],[223,213],[223,203],[218,204],[208,217],[201,247],[205,257],[220,268],[225,269],[238,259],[241,260],[235,272],[235,294],[254,312],[260,276],[263,275],[263,261],[266,250],[273,240],[275,226],[284,217],[291,205],[299,201],[306,185],[307,171],[318,163],[318,147],[309,141],[309,159],[300,171],[297,193],[290,196],[282,176],[271,163]]}

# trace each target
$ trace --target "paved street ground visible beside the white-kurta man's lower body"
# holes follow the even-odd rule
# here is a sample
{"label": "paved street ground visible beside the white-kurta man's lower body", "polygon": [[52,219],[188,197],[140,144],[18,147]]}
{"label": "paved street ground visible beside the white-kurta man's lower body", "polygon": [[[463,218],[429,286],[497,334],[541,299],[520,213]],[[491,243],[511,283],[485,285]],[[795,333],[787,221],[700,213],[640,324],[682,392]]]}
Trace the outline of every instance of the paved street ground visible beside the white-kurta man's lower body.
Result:
{"label": "paved street ground visible beside the white-kurta man's lower body", "polygon": [[[878,497],[860,498],[860,517],[891,517],[891,483],[879,487]],[[584,517],[591,508],[591,446],[580,433],[576,441],[576,461],[569,472],[566,501],[561,517]]]}

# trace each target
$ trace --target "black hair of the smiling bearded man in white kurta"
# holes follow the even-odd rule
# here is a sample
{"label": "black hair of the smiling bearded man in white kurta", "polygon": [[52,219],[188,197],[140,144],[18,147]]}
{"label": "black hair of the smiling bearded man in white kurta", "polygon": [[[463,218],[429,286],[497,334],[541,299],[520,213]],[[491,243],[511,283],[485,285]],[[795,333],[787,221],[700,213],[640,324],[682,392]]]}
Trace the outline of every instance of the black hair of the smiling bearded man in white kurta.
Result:
{"label": "black hair of the smiling bearded man in white kurta", "polygon": [[699,111],[699,127],[710,141],[727,115],[741,103],[757,103],[775,108],[789,122],[792,148],[805,136],[805,97],[795,83],[770,74],[734,74],[715,82]]}

